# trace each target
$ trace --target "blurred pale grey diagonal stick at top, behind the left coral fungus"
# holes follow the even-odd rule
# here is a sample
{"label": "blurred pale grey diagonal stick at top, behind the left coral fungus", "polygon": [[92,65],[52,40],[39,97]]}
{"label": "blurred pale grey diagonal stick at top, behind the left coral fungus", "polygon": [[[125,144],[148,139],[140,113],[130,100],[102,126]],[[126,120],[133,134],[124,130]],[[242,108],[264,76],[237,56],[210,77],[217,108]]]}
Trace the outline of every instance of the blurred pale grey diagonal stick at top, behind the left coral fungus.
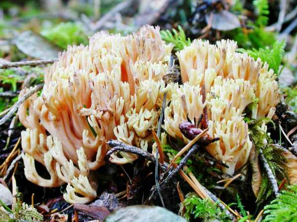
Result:
{"label": "blurred pale grey diagonal stick at top, behind the left coral fungus", "polygon": [[133,1],[134,0],[126,0],[126,1],[122,1],[122,2],[118,3],[111,10],[109,10],[105,15],[103,15],[99,19],[99,21],[97,21],[95,23],[95,25],[93,26],[93,30],[97,31],[97,30],[101,29],[107,21],[109,21],[110,19],[112,19],[114,17],[114,15],[116,13],[123,10],[124,8],[129,7]]}

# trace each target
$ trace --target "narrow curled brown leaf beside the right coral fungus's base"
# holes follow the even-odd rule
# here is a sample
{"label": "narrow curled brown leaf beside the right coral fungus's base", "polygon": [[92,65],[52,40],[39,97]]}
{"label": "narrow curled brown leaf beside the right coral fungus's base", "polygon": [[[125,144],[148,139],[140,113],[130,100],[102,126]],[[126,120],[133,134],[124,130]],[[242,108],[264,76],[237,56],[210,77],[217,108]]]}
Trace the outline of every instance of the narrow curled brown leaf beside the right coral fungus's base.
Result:
{"label": "narrow curled brown leaf beside the right coral fungus's base", "polygon": [[249,153],[249,162],[252,170],[251,187],[255,197],[257,197],[259,193],[259,188],[261,185],[262,176],[261,176],[261,170],[259,166],[258,154],[254,144]]}

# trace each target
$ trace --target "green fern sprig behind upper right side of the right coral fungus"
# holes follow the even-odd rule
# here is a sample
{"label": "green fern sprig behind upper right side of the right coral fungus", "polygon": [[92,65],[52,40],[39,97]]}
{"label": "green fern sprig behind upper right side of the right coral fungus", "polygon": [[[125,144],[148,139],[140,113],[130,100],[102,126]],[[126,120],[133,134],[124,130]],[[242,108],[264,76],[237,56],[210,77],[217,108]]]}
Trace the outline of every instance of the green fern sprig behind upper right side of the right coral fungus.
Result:
{"label": "green fern sprig behind upper right side of the right coral fungus", "polygon": [[253,48],[247,50],[247,54],[254,59],[260,58],[273,69],[274,73],[279,74],[279,67],[285,54],[285,45],[286,43],[284,41],[275,41],[272,48],[265,47],[259,48],[258,50]]}

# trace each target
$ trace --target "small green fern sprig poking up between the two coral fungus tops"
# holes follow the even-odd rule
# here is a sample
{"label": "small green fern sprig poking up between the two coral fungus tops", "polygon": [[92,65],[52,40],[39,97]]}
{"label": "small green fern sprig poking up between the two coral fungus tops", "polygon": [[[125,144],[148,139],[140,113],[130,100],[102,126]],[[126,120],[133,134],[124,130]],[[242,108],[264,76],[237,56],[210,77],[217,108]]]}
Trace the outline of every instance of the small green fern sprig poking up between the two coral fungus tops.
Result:
{"label": "small green fern sprig poking up between the two coral fungus tops", "polygon": [[181,26],[178,26],[178,31],[172,29],[172,33],[169,30],[162,30],[161,37],[167,43],[173,43],[175,51],[180,51],[185,46],[189,46],[191,44],[190,38],[186,37],[186,34]]}

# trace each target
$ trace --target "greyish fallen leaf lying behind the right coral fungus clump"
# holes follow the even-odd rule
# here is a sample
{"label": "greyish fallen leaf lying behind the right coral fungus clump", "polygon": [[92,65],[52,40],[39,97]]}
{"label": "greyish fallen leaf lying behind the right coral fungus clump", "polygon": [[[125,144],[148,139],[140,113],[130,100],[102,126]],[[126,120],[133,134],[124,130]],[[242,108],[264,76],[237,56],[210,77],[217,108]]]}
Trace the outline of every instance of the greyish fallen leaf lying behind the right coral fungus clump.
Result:
{"label": "greyish fallen leaf lying behind the right coral fungus clump", "polygon": [[213,13],[212,19],[211,13],[207,14],[206,22],[208,25],[211,25],[211,28],[220,31],[228,31],[241,27],[238,17],[227,10]]}

